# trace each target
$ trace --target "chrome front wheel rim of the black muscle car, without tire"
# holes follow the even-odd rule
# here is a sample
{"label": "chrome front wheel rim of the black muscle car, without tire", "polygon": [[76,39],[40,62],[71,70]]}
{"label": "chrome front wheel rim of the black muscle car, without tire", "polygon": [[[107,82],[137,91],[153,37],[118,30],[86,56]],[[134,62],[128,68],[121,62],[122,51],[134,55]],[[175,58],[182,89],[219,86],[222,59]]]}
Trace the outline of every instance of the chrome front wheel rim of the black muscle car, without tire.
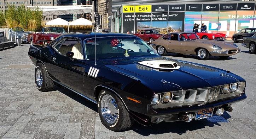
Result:
{"label": "chrome front wheel rim of the black muscle car, without tire", "polygon": [[111,95],[104,95],[101,99],[101,114],[109,124],[114,124],[118,118],[117,104]]}

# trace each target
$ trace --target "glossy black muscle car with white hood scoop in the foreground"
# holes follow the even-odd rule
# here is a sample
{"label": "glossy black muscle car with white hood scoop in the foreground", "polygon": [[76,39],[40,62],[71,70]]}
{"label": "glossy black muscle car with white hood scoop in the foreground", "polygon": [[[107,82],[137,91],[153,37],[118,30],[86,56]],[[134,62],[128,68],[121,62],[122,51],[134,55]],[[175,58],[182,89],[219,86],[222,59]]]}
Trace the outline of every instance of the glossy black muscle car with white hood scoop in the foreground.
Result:
{"label": "glossy black muscle car with white hood scoop in the foreground", "polygon": [[139,37],[66,33],[31,45],[40,91],[66,87],[97,104],[112,131],[162,121],[199,120],[232,111],[246,98],[243,78],[226,70],[160,56]]}

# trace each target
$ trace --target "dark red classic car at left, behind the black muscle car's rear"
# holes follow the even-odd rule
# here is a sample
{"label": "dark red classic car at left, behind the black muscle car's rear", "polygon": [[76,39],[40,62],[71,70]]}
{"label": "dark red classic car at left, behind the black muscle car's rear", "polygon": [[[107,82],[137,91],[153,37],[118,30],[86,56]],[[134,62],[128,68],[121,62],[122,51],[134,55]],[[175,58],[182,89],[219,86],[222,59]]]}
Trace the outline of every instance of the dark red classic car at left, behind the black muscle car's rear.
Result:
{"label": "dark red classic car at left, behind the black muscle car's rear", "polygon": [[47,44],[63,33],[66,33],[63,27],[43,27],[41,32],[29,34],[28,41],[31,44]]}

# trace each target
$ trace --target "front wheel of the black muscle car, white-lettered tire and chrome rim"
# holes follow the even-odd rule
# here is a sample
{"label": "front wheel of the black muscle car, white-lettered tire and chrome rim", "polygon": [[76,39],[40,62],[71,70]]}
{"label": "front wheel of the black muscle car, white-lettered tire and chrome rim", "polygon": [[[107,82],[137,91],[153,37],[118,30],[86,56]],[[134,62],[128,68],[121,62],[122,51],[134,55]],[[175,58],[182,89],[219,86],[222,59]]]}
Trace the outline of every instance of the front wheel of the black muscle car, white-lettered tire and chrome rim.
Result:
{"label": "front wheel of the black muscle car, white-lettered tire and chrome rim", "polygon": [[[106,106],[106,108],[104,108],[104,106]],[[105,112],[106,110],[110,112],[107,113]],[[101,90],[99,93],[98,112],[102,124],[107,129],[110,129],[112,131],[121,131],[128,129],[134,123],[134,119],[127,112],[127,109],[126,107],[124,107],[122,101],[116,95],[107,90]],[[107,118],[108,121],[105,118]]]}

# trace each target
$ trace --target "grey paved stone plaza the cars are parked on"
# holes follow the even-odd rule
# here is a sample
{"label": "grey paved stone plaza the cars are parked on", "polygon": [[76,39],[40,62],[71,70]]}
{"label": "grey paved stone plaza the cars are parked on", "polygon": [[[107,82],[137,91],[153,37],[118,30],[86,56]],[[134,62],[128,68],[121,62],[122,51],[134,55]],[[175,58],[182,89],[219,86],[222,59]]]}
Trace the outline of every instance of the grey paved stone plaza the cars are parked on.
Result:
{"label": "grey paved stone plaza the cars are parked on", "polygon": [[[163,122],[150,127],[134,123],[113,132],[105,128],[96,104],[55,87],[40,92],[34,81],[35,66],[28,57],[30,44],[0,51],[0,138],[256,138],[256,55],[241,46],[240,54],[222,60],[211,57],[168,54],[181,59],[229,70],[246,80],[247,99],[232,105],[233,112],[191,122]],[[215,118],[215,119],[214,119]],[[219,121],[219,122],[216,122]]]}

